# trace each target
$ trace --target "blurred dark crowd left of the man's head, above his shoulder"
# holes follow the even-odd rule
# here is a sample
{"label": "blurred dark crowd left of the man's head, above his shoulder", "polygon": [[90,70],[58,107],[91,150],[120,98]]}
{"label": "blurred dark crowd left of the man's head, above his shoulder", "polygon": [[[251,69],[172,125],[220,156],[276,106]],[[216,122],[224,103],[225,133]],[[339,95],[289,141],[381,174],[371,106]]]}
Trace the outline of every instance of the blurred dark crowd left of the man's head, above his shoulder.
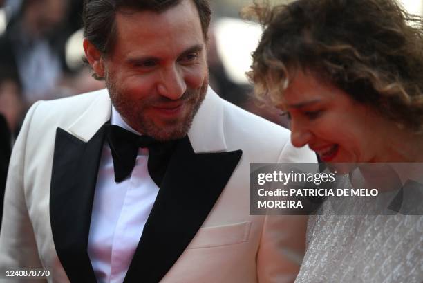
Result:
{"label": "blurred dark crowd left of the man's head, above his shoulder", "polygon": [[82,23],[82,0],[0,1],[0,113],[16,136],[26,109],[48,100],[103,87],[86,66],[70,67],[66,42]]}

